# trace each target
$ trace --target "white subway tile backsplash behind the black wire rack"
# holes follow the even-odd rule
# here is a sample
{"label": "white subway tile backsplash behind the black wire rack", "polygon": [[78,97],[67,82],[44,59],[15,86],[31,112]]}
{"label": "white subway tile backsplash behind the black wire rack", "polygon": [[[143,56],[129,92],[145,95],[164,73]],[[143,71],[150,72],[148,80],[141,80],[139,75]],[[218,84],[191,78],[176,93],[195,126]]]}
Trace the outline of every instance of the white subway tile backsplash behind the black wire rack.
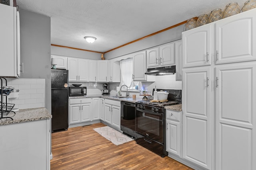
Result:
{"label": "white subway tile backsplash behind the black wire rack", "polygon": [[31,109],[45,107],[45,79],[8,78],[7,86],[12,86],[19,90],[18,98],[12,98],[12,93],[8,96],[8,103],[15,104],[14,108]]}

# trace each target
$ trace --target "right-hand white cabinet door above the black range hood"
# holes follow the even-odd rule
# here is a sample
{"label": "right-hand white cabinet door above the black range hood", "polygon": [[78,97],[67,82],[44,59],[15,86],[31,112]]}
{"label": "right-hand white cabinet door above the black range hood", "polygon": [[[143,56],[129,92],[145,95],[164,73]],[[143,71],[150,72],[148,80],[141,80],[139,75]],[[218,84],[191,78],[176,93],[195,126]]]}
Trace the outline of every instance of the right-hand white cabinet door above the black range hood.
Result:
{"label": "right-hand white cabinet door above the black range hood", "polygon": [[174,43],[161,45],[159,47],[159,64],[160,66],[174,65]]}

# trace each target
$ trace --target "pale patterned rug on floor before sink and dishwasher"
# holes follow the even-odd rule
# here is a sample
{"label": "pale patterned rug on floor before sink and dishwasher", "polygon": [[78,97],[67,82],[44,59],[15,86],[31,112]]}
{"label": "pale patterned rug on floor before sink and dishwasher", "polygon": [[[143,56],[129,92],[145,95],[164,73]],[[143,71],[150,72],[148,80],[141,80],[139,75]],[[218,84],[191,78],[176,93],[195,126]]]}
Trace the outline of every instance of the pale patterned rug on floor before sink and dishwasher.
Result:
{"label": "pale patterned rug on floor before sink and dishwasher", "polygon": [[132,138],[130,138],[130,137],[128,137],[128,136],[116,131],[115,129],[108,127],[108,126],[94,128],[93,130],[98,132],[104,138],[111,141],[116,146],[122,145],[126,142],[133,141]]}

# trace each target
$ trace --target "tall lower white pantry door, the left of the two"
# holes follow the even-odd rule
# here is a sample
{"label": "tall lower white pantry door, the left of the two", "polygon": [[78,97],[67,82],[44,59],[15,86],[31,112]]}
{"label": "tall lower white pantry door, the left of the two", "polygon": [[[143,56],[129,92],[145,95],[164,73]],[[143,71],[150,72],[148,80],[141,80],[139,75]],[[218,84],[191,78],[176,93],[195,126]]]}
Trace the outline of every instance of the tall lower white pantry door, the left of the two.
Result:
{"label": "tall lower white pantry door, the left of the two", "polygon": [[183,158],[211,169],[211,69],[184,69],[182,76]]}

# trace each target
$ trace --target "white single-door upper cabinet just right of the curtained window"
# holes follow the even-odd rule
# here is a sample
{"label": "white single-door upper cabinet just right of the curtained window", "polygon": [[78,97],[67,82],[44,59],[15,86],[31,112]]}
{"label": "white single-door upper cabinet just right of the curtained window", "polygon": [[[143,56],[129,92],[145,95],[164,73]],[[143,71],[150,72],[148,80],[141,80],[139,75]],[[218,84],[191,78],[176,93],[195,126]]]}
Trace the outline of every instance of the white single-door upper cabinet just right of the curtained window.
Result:
{"label": "white single-door upper cabinet just right of the curtained window", "polygon": [[147,80],[146,72],[146,51],[140,51],[133,54],[133,80]]}

